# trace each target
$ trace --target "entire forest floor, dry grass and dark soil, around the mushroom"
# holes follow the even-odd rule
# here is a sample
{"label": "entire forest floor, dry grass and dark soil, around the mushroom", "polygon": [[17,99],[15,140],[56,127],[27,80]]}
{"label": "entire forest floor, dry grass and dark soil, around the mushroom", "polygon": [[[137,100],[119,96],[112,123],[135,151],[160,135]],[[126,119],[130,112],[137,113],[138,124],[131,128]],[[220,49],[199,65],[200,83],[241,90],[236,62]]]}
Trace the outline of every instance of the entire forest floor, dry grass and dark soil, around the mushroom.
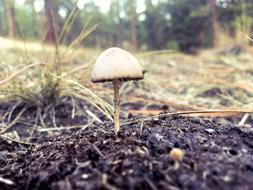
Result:
{"label": "entire forest floor, dry grass and dark soil, around the mushroom", "polygon": [[0,53],[0,189],[252,189],[253,120],[238,125],[253,107],[250,49],[137,54],[146,76],[122,84],[115,136],[112,85],[90,82],[98,50],[59,69],[52,49],[26,48]]}

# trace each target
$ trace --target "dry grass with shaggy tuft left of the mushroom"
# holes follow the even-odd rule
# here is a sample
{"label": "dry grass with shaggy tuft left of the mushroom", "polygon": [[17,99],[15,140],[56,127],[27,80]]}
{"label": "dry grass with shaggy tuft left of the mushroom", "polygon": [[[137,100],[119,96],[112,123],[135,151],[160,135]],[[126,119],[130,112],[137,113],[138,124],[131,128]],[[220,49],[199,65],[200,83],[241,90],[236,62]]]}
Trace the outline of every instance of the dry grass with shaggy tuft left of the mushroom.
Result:
{"label": "dry grass with shaggy tuft left of the mushroom", "polygon": [[51,119],[53,127],[59,127],[55,108],[60,104],[72,106],[71,118],[84,112],[78,105],[83,101],[112,120],[112,106],[86,86],[94,59],[90,52],[95,50],[58,46],[56,53],[52,46],[26,43],[24,49],[21,41],[1,40],[13,42],[0,50],[0,106],[8,107],[0,112],[0,135],[11,135],[3,138],[22,139],[11,130],[17,123],[30,126],[26,141],[40,128],[50,127],[45,120]]}

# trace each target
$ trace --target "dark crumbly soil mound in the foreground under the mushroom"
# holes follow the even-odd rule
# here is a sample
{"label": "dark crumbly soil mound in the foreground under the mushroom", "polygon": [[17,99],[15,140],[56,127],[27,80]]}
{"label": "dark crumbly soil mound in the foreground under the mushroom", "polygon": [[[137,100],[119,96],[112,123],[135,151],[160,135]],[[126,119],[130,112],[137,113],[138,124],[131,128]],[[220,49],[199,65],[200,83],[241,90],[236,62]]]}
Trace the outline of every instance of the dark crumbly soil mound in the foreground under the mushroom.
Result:
{"label": "dark crumbly soil mound in the foreground under the mushroom", "polygon": [[[1,140],[1,139],[0,139]],[[253,189],[253,130],[199,118],[93,125],[16,149],[0,141],[0,189]],[[179,167],[172,148],[185,151]]]}

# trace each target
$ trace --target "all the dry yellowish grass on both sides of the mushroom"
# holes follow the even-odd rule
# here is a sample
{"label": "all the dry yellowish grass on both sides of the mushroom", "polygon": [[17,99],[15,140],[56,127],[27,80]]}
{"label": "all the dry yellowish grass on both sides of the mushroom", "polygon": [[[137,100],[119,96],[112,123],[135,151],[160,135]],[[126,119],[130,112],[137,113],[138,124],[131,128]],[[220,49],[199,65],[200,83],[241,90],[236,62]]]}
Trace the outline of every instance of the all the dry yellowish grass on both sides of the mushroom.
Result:
{"label": "all the dry yellowish grass on both sides of the mushroom", "polygon": [[[92,63],[101,50],[79,48],[72,51],[59,46],[58,51],[64,52],[59,73],[55,71],[53,47],[26,43],[24,49],[21,44],[21,41],[13,41],[12,46],[2,46],[0,50],[0,103],[14,102],[7,113],[0,114],[0,135],[22,120],[30,107],[35,108],[35,118],[25,123],[33,126],[30,138],[35,131],[46,128],[55,131],[54,107],[64,101],[70,101],[73,107],[72,118],[77,112],[87,115],[85,110],[78,110],[75,105],[78,100],[112,120],[112,85],[90,82]],[[147,73],[143,81],[123,83],[123,115],[156,114],[163,105],[168,106],[169,111],[250,110],[253,107],[253,56],[250,52],[236,56],[213,50],[203,51],[198,56],[167,51],[136,54]],[[24,103],[26,106],[14,117],[13,112]],[[158,106],[157,110],[149,109],[150,105]],[[53,128],[43,121],[47,114],[52,118]],[[72,127],[76,128],[69,126]],[[20,139],[19,134],[12,135],[13,139]]]}

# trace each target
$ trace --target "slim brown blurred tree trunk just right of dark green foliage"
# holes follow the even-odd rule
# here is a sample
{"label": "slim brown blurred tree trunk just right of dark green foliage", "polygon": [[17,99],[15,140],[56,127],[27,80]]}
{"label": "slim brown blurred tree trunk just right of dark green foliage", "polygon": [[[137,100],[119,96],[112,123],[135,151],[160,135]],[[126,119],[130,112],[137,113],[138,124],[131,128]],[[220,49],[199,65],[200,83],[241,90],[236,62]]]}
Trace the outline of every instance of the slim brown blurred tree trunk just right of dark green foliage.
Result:
{"label": "slim brown blurred tree trunk just right of dark green foliage", "polygon": [[211,23],[213,30],[213,46],[217,47],[219,45],[219,25],[218,25],[218,15],[216,0],[208,0],[211,9]]}

